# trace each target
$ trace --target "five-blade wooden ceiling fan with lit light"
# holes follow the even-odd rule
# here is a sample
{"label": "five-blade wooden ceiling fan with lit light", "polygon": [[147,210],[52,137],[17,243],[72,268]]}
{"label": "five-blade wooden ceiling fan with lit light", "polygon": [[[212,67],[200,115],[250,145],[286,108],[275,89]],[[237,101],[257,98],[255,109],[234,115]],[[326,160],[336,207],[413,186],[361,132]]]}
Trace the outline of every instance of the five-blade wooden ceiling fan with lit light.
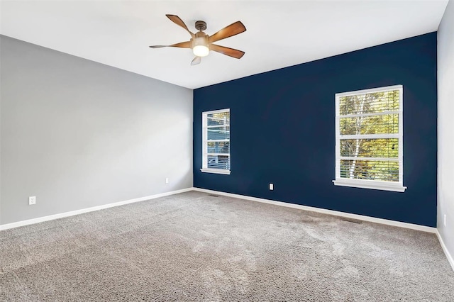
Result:
{"label": "five-blade wooden ceiling fan with lit light", "polygon": [[192,52],[196,57],[194,57],[194,60],[192,60],[191,65],[197,65],[200,64],[201,62],[201,57],[206,57],[210,50],[213,50],[215,52],[219,52],[223,55],[228,55],[230,57],[235,57],[236,59],[240,59],[243,57],[244,52],[241,50],[235,50],[230,47],[225,47],[225,46],[220,46],[213,44],[214,42],[218,40],[222,40],[225,38],[229,38],[233,35],[238,35],[238,33],[243,33],[246,31],[245,26],[243,23],[240,21],[236,21],[235,23],[232,23],[229,26],[226,26],[225,28],[222,28],[219,30],[217,33],[214,35],[206,35],[203,30],[206,30],[206,22],[204,21],[196,21],[196,29],[199,30],[197,33],[192,33],[191,30],[189,30],[182,21],[182,19],[179,18],[179,16],[176,15],[165,15],[167,18],[170,18],[170,20],[177,24],[178,26],[181,26],[187,32],[189,35],[191,35],[191,40],[187,42],[181,42],[181,43],[176,43],[172,45],[153,45],[150,46],[151,48],[160,48],[160,47],[182,47],[182,48],[191,48]]}

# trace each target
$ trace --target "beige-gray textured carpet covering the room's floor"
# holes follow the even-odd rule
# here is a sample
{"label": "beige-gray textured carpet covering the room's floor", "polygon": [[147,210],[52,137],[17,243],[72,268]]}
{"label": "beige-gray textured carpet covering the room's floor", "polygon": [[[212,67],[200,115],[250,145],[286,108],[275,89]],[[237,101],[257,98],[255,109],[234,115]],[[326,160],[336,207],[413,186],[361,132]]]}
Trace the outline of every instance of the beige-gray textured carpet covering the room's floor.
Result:
{"label": "beige-gray textured carpet covering the room's floor", "polygon": [[436,235],[188,192],[0,232],[0,301],[454,301]]}

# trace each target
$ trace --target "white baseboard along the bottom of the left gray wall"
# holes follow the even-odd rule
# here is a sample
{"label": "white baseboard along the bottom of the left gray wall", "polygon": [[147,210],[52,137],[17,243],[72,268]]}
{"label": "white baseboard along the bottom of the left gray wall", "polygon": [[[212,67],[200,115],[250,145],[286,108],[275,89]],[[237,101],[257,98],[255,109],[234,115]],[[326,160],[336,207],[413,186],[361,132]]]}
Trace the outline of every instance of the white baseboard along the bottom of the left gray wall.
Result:
{"label": "white baseboard along the bottom of the left gray wall", "polygon": [[38,217],[38,218],[33,218],[33,219],[28,219],[28,220],[21,220],[16,223],[7,223],[4,225],[0,225],[0,230],[8,230],[9,228],[18,228],[23,225],[42,223],[42,222],[48,221],[48,220],[54,220],[54,219],[58,219],[58,218],[79,215],[82,213],[98,211],[98,210],[102,210],[104,208],[112,208],[114,206],[123,206],[124,204],[135,203],[138,201],[148,201],[150,199],[159,198],[159,197],[163,197],[163,196],[169,196],[169,195],[173,195],[173,194],[179,194],[179,193],[183,193],[183,192],[187,192],[187,191],[192,191],[192,188],[181,189],[181,190],[177,190],[177,191],[170,191],[170,192],[165,192],[165,193],[161,193],[161,194],[155,194],[155,195],[150,195],[150,196],[145,196],[145,197],[140,197],[140,198],[134,198],[134,199],[129,199],[127,201],[118,201],[115,203],[103,204],[102,206],[93,206],[91,208],[82,208],[80,210],[70,211],[70,212],[65,212],[65,213],[58,213],[58,214],[54,214],[54,215],[50,215],[50,216]]}

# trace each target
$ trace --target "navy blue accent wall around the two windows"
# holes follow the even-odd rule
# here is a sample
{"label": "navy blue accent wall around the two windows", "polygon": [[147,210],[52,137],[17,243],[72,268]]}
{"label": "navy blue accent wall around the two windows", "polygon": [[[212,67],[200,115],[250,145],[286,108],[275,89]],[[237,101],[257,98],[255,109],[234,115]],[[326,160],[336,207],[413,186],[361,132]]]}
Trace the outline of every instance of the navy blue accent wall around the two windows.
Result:
{"label": "navy blue accent wall around the two windows", "polygon": [[[194,186],[435,227],[436,44],[428,33],[194,90]],[[335,94],[397,84],[408,189],[334,186]],[[202,173],[201,113],[222,108],[231,174]]]}

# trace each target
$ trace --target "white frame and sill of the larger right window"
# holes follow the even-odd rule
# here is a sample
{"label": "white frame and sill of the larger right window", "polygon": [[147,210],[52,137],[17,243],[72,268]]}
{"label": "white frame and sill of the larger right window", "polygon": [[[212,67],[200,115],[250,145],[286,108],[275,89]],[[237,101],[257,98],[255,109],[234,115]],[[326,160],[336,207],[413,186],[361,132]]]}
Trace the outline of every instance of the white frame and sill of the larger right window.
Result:
{"label": "white frame and sill of the larger right window", "polygon": [[[387,135],[341,135],[340,130],[340,99],[343,96],[354,96],[358,94],[370,94],[375,92],[382,92],[382,91],[391,91],[391,90],[399,90],[399,111],[395,111],[399,114],[399,133],[397,134],[387,134]],[[397,192],[404,192],[406,186],[403,185],[403,177],[404,177],[404,116],[403,116],[403,86],[402,85],[394,85],[394,86],[386,86],[380,88],[373,88],[373,89],[364,89],[358,91],[349,91],[343,92],[340,94],[336,94],[336,179],[333,180],[334,185],[336,186],[350,186],[355,188],[363,188],[363,189],[377,189],[377,190],[384,190],[384,191],[397,191]],[[394,112],[394,111],[393,111]],[[378,180],[368,180],[368,179],[346,179],[341,178],[341,160],[348,160],[348,157],[341,157],[341,137],[348,138],[350,136],[354,136],[355,138],[398,138],[399,139],[399,181],[378,181]],[[380,136],[380,137],[377,137]],[[381,159],[377,157],[357,157],[358,160],[387,160]]]}

